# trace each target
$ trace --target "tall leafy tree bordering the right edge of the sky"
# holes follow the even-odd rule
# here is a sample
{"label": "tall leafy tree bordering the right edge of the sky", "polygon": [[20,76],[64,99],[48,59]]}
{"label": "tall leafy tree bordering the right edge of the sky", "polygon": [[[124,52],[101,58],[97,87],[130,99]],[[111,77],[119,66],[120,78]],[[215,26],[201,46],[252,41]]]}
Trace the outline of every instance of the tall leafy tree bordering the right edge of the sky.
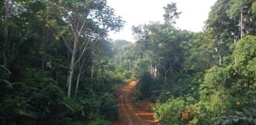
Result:
{"label": "tall leafy tree bordering the right edge of the sky", "polygon": [[213,35],[214,47],[219,56],[219,66],[222,65],[223,58],[231,54],[233,43],[236,44],[240,38],[237,26],[239,20],[233,20],[223,13],[229,9],[229,4],[228,0],[219,0],[214,3],[206,23],[208,33]]}

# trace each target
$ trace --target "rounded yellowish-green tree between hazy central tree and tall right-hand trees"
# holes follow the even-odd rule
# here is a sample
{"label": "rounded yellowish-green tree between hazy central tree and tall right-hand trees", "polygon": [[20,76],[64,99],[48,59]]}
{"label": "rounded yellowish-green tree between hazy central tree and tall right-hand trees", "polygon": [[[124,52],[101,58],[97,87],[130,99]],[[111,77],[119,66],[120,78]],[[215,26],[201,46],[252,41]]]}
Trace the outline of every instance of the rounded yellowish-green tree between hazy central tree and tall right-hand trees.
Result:
{"label": "rounded yellowish-green tree between hazy central tree and tall right-hand trees", "polygon": [[218,65],[215,43],[213,36],[205,31],[194,34],[186,55],[184,68],[193,72],[204,72],[205,70]]}

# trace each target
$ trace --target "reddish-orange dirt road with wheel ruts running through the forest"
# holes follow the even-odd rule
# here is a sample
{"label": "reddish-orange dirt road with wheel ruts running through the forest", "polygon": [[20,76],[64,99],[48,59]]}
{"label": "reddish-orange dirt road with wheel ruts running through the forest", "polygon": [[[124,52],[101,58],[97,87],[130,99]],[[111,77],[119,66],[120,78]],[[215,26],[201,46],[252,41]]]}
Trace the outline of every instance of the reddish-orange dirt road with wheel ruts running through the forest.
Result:
{"label": "reddish-orange dirt road with wheel ruts running through the forest", "polygon": [[153,118],[152,111],[146,111],[148,103],[141,108],[140,103],[135,104],[135,85],[138,80],[131,80],[128,84],[118,87],[119,121],[113,125],[159,125]]}

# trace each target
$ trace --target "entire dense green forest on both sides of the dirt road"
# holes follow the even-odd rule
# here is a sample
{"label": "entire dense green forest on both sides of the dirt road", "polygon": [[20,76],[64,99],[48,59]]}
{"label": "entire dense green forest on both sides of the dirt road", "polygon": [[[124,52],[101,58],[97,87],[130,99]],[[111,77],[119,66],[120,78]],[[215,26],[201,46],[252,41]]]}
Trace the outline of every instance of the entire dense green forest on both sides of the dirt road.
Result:
{"label": "entire dense green forest on both sides of the dirt road", "polygon": [[176,28],[169,3],[164,22],[133,27],[135,43],[108,38],[125,22],[106,0],[0,9],[0,124],[110,125],[130,78],[168,125],[256,124],[255,0],[217,0],[200,33]]}

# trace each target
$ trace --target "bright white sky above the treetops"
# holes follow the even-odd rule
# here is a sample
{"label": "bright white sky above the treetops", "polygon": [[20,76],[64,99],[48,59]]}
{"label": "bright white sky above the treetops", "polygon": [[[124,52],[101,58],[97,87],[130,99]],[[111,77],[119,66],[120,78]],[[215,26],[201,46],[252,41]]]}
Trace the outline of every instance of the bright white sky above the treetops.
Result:
{"label": "bright white sky above the treetops", "polygon": [[108,0],[108,5],[115,9],[126,23],[120,32],[110,32],[112,40],[135,42],[132,26],[148,22],[163,22],[164,9],[167,3],[176,3],[181,16],[176,20],[176,27],[200,32],[216,0]]}

